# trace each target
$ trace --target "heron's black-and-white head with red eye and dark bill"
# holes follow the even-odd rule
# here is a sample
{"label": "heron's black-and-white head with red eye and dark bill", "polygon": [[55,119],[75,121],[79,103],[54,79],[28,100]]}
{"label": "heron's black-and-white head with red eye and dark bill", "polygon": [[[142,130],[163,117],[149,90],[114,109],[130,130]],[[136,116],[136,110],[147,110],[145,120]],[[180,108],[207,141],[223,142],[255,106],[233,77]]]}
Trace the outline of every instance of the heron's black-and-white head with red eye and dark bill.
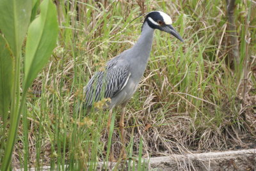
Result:
{"label": "heron's black-and-white head with red eye and dark bill", "polygon": [[175,36],[175,38],[183,42],[180,34],[172,27],[171,17],[166,13],[162,11],[152,11],[147,14],[144,22],[147,22],[148,26],[150,26],[152,29],[159,29],[161,31],[170,33]]}

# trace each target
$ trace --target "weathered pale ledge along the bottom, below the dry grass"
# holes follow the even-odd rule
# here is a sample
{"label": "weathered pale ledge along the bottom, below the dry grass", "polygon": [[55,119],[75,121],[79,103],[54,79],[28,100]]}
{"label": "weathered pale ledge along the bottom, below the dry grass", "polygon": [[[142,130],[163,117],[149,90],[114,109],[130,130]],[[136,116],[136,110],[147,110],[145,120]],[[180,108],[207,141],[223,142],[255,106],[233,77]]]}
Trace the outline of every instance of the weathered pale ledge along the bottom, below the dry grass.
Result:
{"label": "weathered pale ledge along the bottom, below the dry grass", "polygon": [[[204,152],[198,154],[173,154],[170,156],[151,158],[148,170],[169,171],[169,170],[256,170],[256,149],[244,149],[239,151]],[[109,168],[114,168],[116,163],[109,163]],[[103,162],[99,162],[98,170],[103,169]],[[126,166],[121,166],[127,168]],[[35,170],[35,168],[31,168]],[[42,170],[50,170],[50,167],[43,167]],[[103,169],[104,170],[104,169]],[[112,170],[112,169],[109,169]],[[20,171],[20,170],[19,170]]]}

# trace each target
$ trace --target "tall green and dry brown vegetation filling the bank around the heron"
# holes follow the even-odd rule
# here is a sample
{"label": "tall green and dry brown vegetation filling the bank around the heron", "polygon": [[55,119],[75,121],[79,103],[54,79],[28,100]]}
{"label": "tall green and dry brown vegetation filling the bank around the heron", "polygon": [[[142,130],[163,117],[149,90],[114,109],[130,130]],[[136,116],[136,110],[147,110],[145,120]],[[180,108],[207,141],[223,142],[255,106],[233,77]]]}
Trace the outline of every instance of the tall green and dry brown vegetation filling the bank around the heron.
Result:
{"label": "tall green and dry brown vegetation filling the bank around the heron", "polygon": [[[232,47],[227,46],[225,1],[138,1],[140,5],[136,1],[56,1],[58,15],[54,15],[47,0],[42,3],[48,2],[52,8],[48,11],[36,0],[30,7],[17,2],[13,1],[13,8],[21,5],[24,6],[20,8],[28,8],[27,19],[16,20],[19,13],[13,13],[10,17],[13,23],[9,22],[13,30],[0,22],[0,167],[8,167],[5,160],[10,158],[4,156],[3,149],[12,148],[12,144],[4,144],[9,135],[15,138],[16,131],[13,167],[28,165],[40,170],[51,165],[64,170],[67,165],[69,170],[95,170],[95,162],[108,161],[111,144],[106,132],[108,110],[86,112],[82,107],[83,87],[94,71],[102,70],[106,61],[132,47],[140,35],[143,17],[134,19],[143,10],[170,14],[173,27],[184,43],[169,34],[155,32],[145,77],[125,115],[127,160],[137,163],[129,165],[129,170],[145,169],[147,164],[141,158],[255,145],[256,11],[251,9],[256,4],[253,1],[236,1],[234,17],[240,61],[234,70],[227,61]],[[0,9],[1,16],[13,11],[3,13],[3,10]],[[36,16],[39,11],[40,17]],[[54,22],[56,16],[57,45],[55,24],[49,27],[46,24]],[[44,41],[33,39],[39,33]],[[36,47],[38,43],[42,46]],[[10,56],[17,60],[10,61]],[[13,89],[9,89],[11,84]],[[116,157],[121,148],[118,122],[114,123],[120,117],[119,112],[114,110],[110,129]],[[122,161],[118,164],[126,167]]]}

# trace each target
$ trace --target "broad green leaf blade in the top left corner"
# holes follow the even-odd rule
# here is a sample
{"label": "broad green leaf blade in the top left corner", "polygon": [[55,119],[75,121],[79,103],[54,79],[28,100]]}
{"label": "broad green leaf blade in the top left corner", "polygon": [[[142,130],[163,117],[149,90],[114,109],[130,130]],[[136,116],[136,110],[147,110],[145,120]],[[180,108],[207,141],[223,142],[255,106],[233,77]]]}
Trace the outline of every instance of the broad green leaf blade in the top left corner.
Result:
{"label": "broad green leaf blade in the top left corner", "polygon": [[26,36],[31,9],[31,0],[0,0],[0,29],[14,56],[19,54]]}

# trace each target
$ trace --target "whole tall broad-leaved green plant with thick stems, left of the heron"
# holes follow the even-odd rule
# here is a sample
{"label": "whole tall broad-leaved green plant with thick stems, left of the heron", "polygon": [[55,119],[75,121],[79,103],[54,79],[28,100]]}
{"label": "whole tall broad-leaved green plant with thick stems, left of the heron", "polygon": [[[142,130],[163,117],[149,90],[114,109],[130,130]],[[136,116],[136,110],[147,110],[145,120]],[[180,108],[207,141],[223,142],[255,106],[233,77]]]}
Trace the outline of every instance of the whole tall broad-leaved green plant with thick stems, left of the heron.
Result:
{"label": "whole tall broad-leaved green plant with thick stems, left of the heron", "polygon": [[[1,49],[1,170],[10,169],[12,151],[18,131],[20,114],[26,118],[26,93],[38,72],[51,57],[58,34],[57,11],[51,1],[42,1],[40,15],[29,24],[35,1],[1,1],[0,35]],[[25,55],[22,43],[28,29]],[[20,71],[20,61],[24,61]],[[14,66],[14,67],[13,67]],[[22,96],[20,99],[20,78]],[[3,101],[3,103],[2,103]],[[8,110],[10,109],[10,114]],[[10,123],[9,119],[10,117]],[[9,125],[8,125],[9,124]],[[24,122],[24,126],[26,126]],[[6,134],[6,128],[10,128]],[[24,148],[28,150],[28,130],[24,129]],[[28,151],[25,152],[28,155]],[[24,163],[28,163],[28,156]],[[25,166],[26,168],[26,166]]]}

